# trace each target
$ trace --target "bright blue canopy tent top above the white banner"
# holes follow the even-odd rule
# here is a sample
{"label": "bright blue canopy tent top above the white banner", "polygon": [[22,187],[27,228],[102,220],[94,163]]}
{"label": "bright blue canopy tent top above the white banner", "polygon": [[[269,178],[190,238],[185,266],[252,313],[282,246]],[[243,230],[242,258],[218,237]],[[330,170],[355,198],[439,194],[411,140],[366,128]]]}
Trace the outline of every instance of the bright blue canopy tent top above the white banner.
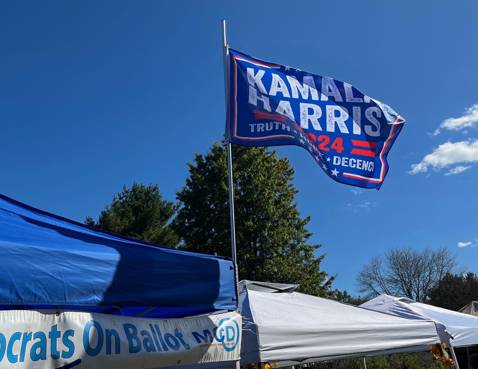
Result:
{"label": "bright blue canopy tent top above the white banner", "polygon": [[3,195],[0,260],[0,310],[182,317],[237,309],[228,258],[119,236]]}

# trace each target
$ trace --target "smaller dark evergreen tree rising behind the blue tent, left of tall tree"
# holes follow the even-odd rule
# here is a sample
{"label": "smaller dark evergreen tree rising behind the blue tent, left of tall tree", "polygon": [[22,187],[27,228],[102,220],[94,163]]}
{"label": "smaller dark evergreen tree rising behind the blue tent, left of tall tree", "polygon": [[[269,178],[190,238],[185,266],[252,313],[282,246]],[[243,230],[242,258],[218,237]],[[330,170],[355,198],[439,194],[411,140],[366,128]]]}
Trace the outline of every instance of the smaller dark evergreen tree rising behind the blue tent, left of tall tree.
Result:
{"label": "smaller dark evergreen tree rising behind the blue tent, left of tall tree", "polygon": [[175,247],[179,239],[168,222],[179,206],[163,200],[158,184],[145,186],[135,182],[131,188],[125,184],[123,191],[113,196],[111,204],[101,211],[98,222],[87,217],[85,224],[157,245]]}

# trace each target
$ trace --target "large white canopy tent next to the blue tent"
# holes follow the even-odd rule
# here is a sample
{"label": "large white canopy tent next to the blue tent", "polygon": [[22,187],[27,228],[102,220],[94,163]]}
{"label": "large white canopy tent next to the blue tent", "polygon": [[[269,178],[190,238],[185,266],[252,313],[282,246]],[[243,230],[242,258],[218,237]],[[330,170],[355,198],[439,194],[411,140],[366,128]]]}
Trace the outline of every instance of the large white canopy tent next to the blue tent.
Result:
{"label": "large white canopy tent next to the blue tent", "polygon": [[[297,285],[239,284],[241,315],[247,321],[242,330],[241,365],[276,362],[290,366],[424,351],[440,342],[431,320],[404,319],[304,293],[283,292]],[[261,292],[267,290],[270,293]],[[206,367],[198,364],[191,368]]]}

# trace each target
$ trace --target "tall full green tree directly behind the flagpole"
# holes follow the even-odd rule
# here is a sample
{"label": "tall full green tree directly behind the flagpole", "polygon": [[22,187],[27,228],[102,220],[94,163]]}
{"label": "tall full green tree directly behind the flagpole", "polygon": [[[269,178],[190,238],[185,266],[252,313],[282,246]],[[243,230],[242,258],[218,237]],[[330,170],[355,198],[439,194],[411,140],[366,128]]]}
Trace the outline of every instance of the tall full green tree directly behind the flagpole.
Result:
{"label": "tall full green tree directly behind the flagpole", "polygon": [[[227,150],[214,142],[205,155],[188,163],[189,177],[177,199],[182,207],[173,228],[188,251],[231,256]],[[299,291],[331,297],[330,278],[320,270],[321,245],[310,245],[286,157],[267,148],[232,146],[234,210],[239,280],[299,283]]]}

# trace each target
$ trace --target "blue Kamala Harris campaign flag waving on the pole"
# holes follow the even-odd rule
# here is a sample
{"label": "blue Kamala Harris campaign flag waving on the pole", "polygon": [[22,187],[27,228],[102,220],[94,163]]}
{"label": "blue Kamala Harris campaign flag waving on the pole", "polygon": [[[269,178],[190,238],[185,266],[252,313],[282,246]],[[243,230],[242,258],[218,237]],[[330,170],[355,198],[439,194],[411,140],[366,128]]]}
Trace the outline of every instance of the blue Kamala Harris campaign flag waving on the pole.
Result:
{"label": "blue Kamala Harris campaign flag waving on the pole", "polygon": [[346,82],[229,49],[226,142],[296,145],[333,180],[379,189],[405,121]]}

